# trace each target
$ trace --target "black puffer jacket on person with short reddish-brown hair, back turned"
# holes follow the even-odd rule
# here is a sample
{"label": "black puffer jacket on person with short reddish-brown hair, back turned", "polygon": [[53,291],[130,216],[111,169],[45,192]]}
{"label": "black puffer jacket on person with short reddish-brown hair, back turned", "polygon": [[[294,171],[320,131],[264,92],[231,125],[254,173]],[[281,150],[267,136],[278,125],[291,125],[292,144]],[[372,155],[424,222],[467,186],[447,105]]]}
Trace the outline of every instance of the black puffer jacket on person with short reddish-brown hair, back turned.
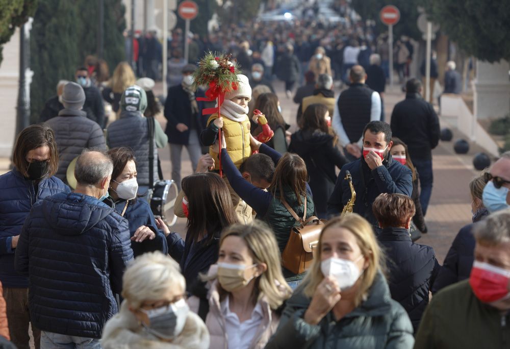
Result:
{"label": "black puffer jacket on person with short reddish-brown hair, back turned", "polygon": [[412,242],[407,229],[386,228],[377,238],[388,258],[391,297],[407,311],[416,332],[441,266],[432,247]]}

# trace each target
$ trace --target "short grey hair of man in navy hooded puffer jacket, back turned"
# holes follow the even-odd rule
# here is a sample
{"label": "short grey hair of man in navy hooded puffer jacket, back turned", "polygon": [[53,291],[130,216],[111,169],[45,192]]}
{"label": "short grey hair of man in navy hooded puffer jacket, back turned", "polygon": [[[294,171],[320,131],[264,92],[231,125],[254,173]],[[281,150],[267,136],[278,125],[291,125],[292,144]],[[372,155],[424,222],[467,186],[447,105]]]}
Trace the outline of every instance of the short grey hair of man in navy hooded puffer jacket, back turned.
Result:
{"label": "short grey hair of man in navy hooded puffer jacket, back turned", "polygon": [[104,151],[87,148],[76,161],[74,177],[81,185],[95,186],[112,175],[113,161]]}

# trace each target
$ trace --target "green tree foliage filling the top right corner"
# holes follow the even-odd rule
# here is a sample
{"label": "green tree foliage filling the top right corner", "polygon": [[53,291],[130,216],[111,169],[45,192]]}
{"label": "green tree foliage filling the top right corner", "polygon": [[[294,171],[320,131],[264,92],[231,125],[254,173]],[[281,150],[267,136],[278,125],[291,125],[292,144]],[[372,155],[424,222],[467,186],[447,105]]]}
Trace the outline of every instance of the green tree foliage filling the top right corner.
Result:
{"label": "green tree foliage filling the top right corner", "polygon": [[510,61],[510,1],[426,0],[427,13],[467,54]]}

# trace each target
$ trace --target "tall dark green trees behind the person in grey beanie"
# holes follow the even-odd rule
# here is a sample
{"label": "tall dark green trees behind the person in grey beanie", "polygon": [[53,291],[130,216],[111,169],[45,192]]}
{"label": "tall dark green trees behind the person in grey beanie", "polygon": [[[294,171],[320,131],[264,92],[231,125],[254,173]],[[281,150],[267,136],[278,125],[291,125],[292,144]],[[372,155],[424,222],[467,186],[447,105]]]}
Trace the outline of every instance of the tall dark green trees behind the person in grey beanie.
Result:
{"label": "tall dark green trees behind the person in grey beanie", "polygon": [[[2,0],[0,0],[2,1]],[[59,80],[74,79],[87,55],[97,54],[98,1],[44,0],[39,2],[31,36],[31,122],[37,122]],[[111,70],[125,60],[124,6],[107,0],[104,20],[104,59]]]}

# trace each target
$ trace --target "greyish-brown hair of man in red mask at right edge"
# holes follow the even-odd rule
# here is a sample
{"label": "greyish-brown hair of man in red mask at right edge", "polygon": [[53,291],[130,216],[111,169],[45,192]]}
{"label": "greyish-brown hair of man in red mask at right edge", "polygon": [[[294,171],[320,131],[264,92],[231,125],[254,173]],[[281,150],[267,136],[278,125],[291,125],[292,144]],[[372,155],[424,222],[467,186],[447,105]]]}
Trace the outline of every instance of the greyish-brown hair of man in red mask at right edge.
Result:
{"label": "greyish-brown hair of man in red mask at right edge", "polygon": [[498,245],[510,242],[510,209],[492,213],[474,226],[476,242]]}

